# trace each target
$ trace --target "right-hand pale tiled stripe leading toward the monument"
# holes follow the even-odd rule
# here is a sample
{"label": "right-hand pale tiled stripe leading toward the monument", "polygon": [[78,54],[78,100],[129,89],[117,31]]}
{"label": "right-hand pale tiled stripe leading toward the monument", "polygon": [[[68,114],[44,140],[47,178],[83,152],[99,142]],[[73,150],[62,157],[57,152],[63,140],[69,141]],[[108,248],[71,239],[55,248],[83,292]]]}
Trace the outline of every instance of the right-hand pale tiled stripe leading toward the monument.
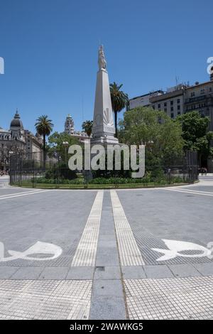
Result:
{"label": "right-hand pale tiled stripe leading toward the monument", "polygon": [[111,205],[118,239],[121,266],[140,266],[145,264],[136,239],[126,218],[124,209],[115,190],[111,190]]}

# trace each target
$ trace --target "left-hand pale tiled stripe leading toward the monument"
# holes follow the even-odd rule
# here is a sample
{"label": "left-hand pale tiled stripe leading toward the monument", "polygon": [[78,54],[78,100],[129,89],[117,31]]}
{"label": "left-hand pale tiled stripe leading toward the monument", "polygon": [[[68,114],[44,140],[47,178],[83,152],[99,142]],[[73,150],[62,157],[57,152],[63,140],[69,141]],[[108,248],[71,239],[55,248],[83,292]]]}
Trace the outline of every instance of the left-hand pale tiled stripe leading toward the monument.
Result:
{"label": "left-hand pale tiled stripe leading toward the monument", "polygon": [[102,215],[104,191],[99,190],[89,213],[71,266],[94,266]]}

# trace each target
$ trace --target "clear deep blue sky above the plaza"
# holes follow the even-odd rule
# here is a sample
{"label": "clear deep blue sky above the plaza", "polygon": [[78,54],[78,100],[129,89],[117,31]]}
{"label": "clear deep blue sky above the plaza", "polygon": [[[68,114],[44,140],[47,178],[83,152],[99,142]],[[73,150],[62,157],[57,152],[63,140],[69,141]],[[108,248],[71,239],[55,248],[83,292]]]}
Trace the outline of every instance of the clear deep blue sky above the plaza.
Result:
{"label": "clear deep blue sky above the plaza", "polygon": [[16,107],[26,129],[48,114],[62,131],[92,119],[99,41],[110,82],[129,97],[207,81],[212,0],[0,0],[0,126]]}

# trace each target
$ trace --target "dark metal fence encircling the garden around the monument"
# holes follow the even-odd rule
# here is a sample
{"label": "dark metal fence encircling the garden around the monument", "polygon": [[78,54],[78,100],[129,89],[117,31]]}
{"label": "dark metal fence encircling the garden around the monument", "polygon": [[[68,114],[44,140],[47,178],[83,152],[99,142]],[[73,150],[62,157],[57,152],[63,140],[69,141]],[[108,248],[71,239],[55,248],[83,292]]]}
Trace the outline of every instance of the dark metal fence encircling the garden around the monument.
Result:
{"label": "dark metal fence encircling the garden around the monument", "polygon": [[67,159],[46,157],[45,168],[42,152],[28,155],[13,154],[10,161],[11,185],[39,187],[41,184],[72,185],[85,188],[88,184],[122,183],[178,183],[194,182],[198,178],[197,153],[187,151],[181,156],[168,156],[158,165],[146,163],[146,173],[142,179],[131,179],[131,171],[70,171]]}

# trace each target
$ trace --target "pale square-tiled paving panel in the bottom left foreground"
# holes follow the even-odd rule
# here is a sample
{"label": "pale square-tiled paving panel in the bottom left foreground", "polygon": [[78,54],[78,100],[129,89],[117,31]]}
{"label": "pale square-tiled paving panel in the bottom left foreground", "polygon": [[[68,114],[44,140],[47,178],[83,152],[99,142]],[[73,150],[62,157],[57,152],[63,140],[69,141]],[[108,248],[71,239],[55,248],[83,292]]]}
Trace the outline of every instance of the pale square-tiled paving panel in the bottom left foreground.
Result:
{"label": "pale square-tiled paving panel in the bottom left foreground", "polygon": [[88,319],[92,281],[0,282],[1,319]]}

